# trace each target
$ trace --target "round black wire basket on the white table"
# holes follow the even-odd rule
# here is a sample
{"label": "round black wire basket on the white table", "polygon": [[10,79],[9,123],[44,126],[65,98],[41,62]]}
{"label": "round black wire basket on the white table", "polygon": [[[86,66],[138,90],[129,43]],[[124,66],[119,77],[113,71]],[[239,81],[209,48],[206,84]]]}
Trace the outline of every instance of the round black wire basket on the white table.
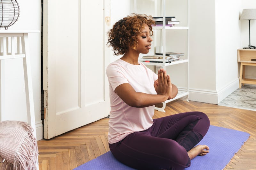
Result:
{"label": "round black wire basket on the white table", "polygon": [[20,6],[16,0],[0,0],[0,29],[13,25],[20,16]]}

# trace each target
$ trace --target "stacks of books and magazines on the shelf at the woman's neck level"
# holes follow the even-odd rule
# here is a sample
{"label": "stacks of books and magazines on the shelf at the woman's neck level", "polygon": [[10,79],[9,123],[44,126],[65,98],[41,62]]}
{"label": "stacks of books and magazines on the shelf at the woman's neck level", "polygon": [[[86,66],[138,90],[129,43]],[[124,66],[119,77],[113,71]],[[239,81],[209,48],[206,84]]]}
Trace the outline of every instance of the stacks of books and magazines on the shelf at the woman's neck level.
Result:
{"label": "stacks of books and magazines on the shelf at the woman's neck level", "polygon": [[[172,61],[180,60],[180,56],[165,56],[165,62],[170,63]],[[143,62],[153,62],[153,63],[163,63],[163,54],[162,55],[147,55],[143,56],[140,61]]]}

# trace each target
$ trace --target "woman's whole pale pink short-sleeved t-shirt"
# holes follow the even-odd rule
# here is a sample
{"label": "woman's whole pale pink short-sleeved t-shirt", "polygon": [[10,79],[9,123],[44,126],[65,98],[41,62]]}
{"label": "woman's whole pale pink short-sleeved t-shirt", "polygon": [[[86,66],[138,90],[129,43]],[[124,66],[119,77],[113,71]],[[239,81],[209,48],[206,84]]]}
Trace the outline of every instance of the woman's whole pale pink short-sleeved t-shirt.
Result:
{"label": "woman's whole pale pink short-sleeved t-shirt", "polygon": [[129,83],[136,92],[156,94],[154,80],[157,75],[139,62],[133,65],[118,59],[107,67],[110,97],[110,117],[108,142],[116,143],[130,133],[144,131],[152,126],[155,105],[135,108],[127,105],[117,96],[115,89],[123,83]]}

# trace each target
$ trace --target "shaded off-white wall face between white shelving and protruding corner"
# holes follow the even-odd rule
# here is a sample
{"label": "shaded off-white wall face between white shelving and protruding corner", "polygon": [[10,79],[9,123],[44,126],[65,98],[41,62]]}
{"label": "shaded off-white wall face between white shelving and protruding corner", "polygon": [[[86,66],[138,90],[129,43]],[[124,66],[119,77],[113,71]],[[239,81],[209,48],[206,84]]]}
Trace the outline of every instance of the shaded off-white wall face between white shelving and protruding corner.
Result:
{"label": "shaded off-white wall face between white shelving and protruding corner", "polygon": [[189,100],[213,103],[216,97],[215,0],[190,1]]}

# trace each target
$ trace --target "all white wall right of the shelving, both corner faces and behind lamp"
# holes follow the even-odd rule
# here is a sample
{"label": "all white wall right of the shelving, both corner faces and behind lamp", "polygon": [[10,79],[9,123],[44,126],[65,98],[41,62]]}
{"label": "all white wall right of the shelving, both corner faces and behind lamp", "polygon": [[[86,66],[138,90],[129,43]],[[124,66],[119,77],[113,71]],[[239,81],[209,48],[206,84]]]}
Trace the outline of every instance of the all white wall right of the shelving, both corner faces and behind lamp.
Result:
{"label": "all white wall right of the shelving, both corner faces and behind lamp", "polygon": [[[248,21],[239,20],[239,15],[244,8],[256,8],[255,4],[248,0],[190,1],[189,100],[218,104],[239,87],[237,49],[249,42]],[[251,30],[255,27],[256,23]],[[251,44],[255,38],[256,33],[251,35]],[[255,74],[255,68],[246,68],[245,77],[255,79]]]}

